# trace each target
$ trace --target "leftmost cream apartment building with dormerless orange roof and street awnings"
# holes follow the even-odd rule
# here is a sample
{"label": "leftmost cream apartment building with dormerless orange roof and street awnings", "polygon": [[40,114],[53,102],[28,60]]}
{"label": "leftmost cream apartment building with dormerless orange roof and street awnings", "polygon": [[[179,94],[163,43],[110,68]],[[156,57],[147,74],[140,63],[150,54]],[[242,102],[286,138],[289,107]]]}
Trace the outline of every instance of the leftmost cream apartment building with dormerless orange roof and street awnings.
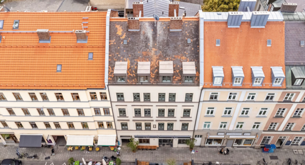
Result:
{"label": "leftmost cream apartment building with dormerless orange roof and street awnings", "polygon": [[0,13],[3,144],[115,145],[105,85],[106,14]]}

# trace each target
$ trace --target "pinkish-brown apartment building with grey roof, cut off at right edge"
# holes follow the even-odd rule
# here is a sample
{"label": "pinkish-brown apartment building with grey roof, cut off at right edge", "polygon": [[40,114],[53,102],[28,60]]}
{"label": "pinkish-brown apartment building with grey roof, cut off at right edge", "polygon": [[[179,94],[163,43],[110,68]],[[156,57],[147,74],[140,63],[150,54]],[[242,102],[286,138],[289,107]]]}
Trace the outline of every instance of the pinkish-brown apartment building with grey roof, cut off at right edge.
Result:
{"label": "pinkish-brown apartment building with grey roof, cut off at right edge", "polygon": [[261,145],[276,144],[277,147],[286,149],[305,148],[303,23],[285,22],[286,90],[282,92],[272,117],[263,129],[258,141]]}

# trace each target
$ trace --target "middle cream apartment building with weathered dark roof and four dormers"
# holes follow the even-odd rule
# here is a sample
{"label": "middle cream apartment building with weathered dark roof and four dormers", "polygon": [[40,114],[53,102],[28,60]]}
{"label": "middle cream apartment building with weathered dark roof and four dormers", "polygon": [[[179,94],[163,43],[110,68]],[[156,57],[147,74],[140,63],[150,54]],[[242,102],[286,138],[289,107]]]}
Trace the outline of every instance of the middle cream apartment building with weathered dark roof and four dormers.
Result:
{"label": "middle cream apartment building with weathered dark roof and four dormers", "polygon": [[108,84],[118,141],[187,147],[200,96],[199,18],[176,11],[155,22],[137,12],[110,18]]}

